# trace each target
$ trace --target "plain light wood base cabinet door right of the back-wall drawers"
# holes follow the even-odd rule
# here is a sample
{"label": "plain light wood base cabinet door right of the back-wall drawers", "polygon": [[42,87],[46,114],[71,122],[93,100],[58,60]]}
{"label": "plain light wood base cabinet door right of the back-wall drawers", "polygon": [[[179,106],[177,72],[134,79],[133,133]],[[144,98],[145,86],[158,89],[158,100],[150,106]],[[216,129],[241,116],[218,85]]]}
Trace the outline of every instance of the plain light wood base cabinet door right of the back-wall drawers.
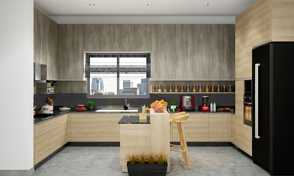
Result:
{"label": "plain light wood base cabinet door right of the back-wall drawers", "polygon": [[228,142],[228,114],[208,115],[208,141]]}

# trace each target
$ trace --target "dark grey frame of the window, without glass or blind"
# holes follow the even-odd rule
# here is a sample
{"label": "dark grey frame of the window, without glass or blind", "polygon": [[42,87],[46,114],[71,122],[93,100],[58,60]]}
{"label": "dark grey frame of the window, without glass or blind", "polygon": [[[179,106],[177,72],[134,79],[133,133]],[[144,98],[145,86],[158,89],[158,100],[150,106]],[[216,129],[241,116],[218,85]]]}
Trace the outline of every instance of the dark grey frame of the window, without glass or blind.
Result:
{"label": "dark grey frame of the window, without glass or blind", "polygon": [[[119,57],[120,55],[126,55],[126,54],[147,54],[147,59],[146,59],[146,65],[150,66],[150,62],[151,62],[151,54],[150,52],[85,52],[85,66],[89,65],[90,60],[86,59],[87,57],[90,58],[90,56],[92,54],[97,54],[97,55],[103,55],[103,54],[107,54],[107,55],[117,55],[117,66],[119,66]],[[88,56],[90,55],[90,56]],[[88,63],[86,63],[88,61]],[[90,78],[86,78],[87,81],[87,98],[122,98],[122,99],[138,99],[138,98],[150,98],[150,78],[147,76],[147,73],[142,73],[142,74],[146,74],[146,95],[119,95],[119,72],[116,73],[117,74],[117,95],[90,95],[90,86],[91,86],[91,80]],[[131,73],[130,73],[131,74]],[[85,74],[86,75],[86,74]]]}

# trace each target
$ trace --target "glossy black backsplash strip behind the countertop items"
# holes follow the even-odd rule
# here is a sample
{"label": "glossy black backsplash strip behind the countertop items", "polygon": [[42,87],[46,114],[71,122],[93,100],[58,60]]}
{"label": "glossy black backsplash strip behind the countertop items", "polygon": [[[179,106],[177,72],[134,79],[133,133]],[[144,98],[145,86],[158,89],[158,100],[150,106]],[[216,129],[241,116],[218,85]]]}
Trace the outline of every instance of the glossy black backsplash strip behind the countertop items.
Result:
{"label": "glossy black backsplash strip behind the countertop items", "polygon": [[[88,101],[94,101],[94,106],[123,106],[125,104],[125,100],[123,98],[109,98],[109,99],[99,99],[99,98],[87,98],[87,94],[80,93],[80,94],[37,94],[34,97],[34,105],[37,108],[41,108],[45,104],[45,99],[48,96],[55,96],[54,106],[76,106],[76,105],[85,105],[87,106]],[[150,98],[128,98],[127,103],[130,103],[131,106],[142,106],[142,105],[150,105],[155,100],[165,100],[169,103],[171,100],[175,100],[177,102],[177,106],[181,105],[181,96],[182,95],[193,95],[195,107],[202,105],[200,98],[204,95],[209,96],[208,104],[210,105],[210,101],[215,101],[217,106],[235,106],[235,94],[150,94]]]}

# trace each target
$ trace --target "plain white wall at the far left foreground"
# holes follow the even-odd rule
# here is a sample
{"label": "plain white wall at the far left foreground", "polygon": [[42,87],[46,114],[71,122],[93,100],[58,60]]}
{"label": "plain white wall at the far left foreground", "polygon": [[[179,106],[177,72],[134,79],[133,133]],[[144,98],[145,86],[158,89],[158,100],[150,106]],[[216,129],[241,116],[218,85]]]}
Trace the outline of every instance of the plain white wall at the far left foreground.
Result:
{"label": "plain white wall at the far left foreground", "polygon": [[0,1],[0,170],[33,167],[33,0]]}

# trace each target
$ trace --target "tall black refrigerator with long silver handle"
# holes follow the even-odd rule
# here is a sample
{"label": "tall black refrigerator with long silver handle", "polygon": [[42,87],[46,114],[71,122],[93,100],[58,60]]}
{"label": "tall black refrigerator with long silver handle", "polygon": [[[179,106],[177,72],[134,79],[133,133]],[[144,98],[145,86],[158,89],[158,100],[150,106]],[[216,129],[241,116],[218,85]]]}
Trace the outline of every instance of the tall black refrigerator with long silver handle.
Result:
{"label": "tall black refrigerator with long silver handle", "polygon": [[271,175],[294,175],[294,43],[252,50],[252,159]]}

